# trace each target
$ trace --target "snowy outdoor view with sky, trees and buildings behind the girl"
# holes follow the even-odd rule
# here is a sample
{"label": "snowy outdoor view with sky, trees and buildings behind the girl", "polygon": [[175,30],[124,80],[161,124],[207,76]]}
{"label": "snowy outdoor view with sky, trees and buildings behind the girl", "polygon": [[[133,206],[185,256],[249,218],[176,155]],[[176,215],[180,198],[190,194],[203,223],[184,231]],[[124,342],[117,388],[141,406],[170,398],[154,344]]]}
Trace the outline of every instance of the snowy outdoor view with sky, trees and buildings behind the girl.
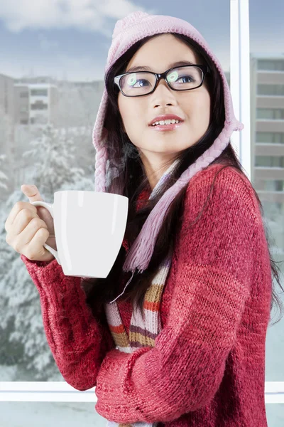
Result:
{"label": "snowy outdoor view with sky, trees and buildings behind the girl", "polygon": [[[280,261],[284,6],[281,0],[271,0],[269,7],[251,0],[249,9],[251,181],[265,209],[274,259]],[[49,202],[62,189],[94,190],[92,128],[111,33],[117,19],[136,10],[192,23],[230,82],[229,0],[158,1],[155,6],[151,0],[0,1],[0,381],[64,381],[45,339],[38,292],[19,254],[6,243],[4,223],[16,201],[28,201],[21,184],[35,184]],[[283,273],[283,264],[279,266]],[[268,329],[266,381],[284,381],[283,322]],[[61,418],[70,426],[105,423],[94,413],[94,404],[0,402],[0,409],[0,427],[43,425],[44,411],[46,426],[55,418],[59,425]],[[269,426],[284,425],[283,405],[270,404],[266,410]],[[17,411],[19,423],[12,416]]]}

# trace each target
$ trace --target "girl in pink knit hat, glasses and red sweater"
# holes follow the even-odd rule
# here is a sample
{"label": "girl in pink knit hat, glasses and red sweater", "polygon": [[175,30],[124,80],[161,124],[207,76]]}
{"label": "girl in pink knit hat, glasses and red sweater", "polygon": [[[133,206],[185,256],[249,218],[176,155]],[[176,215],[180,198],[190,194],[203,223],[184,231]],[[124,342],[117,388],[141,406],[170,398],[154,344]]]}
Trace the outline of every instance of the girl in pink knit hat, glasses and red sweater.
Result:
{"label": "girl in pink knit hat, glasses and red sweater", "polygon": [[94,184],[129,197],[116,262],[84,280],[21,254],[58,369],[96,386],[107,426],[265,427],[270,254],[219,60],[190,23],[135,12],[105,71]]}

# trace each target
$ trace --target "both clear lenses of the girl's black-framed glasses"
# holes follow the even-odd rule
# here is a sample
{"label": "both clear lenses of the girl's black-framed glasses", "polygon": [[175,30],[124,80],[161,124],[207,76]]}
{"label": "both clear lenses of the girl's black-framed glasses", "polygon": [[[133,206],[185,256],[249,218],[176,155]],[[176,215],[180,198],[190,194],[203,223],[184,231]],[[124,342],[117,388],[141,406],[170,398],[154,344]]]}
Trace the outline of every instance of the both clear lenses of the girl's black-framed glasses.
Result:
{"label": "both clear lenses of the girl's black-framed glasses", "polygon": [[[175,68],[166,75],[170,87],[175,90],[197,88],[202,82],[202,77],[202,70],[194,66]],[[121,78],[120,85],[126,95],[146,95],[155,86],[155,75],[143,71],[126,74]]]}

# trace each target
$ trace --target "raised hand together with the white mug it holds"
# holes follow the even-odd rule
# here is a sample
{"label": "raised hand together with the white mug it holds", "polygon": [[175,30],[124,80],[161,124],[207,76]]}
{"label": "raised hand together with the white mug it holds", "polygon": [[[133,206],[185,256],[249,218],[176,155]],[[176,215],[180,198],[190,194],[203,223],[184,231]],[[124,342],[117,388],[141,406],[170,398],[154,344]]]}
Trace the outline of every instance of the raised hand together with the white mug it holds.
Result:
{"label": "raised hand together with the white mug it holds", "polygon": [[[101,191],[63,190],[55,191],[50,204],[36,187],[22,187],[30,204],[18,202],[12,209],[6,221],[7,243],[29,259],[50,260],[53,255],[65,275],[107,278],[124,239],[129,199]],[[17,214],[21,226],[15,228],[11,223]],[[19,238],[25,227],[28,231]]]}

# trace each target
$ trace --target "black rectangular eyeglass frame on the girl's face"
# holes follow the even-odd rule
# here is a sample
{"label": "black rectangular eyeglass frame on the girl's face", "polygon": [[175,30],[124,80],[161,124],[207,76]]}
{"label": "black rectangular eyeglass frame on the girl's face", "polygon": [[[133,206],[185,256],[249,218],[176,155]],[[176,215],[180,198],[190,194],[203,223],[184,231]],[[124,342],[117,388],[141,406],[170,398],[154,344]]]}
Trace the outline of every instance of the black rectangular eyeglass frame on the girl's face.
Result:
{"label": "black rectangular eyeglass frame on the girl's face", "polygon": [[[199,86],[196,86],[196,88],[190,88],[190,89],[174,89],[170,86],[170,83],[168,83],[168,80],[166,79],[166,75],[169,73],[169,71],[171,70],[175,70],[176,68],[186,68],[186,67],[198,67],[202,70],[202,80]],[[153,87],[153,90],[151,90],[151,92],[148,93],[143,93],[142,95],[126,95],[124,93],[124,91],[121,89],[121,85],[120,85],[120,80],[124,75],[127,74],[133,74],[133,73],[149,73],[149,74],[153,74],[155,75],[155,85]],[[157,88],[158,83],[160,81],[161,78],[163,78],[165,80],[165,83],[167,83],[168,87],[172,90],[177,90],[178,92],[184,92],[185,90],[194,90],[197,88],[200,88],[200,86],[202,86],[203,82],[204,82],[204,78],[206,74],[210,74],[210,69],[208,65],[199,65],[199,64],[192,64],[192,65],[179,65],[178,67],[173,67],[170,68],[169,70],[166,70],[165,73],[153,73],[153,71],[130,71],[128,73],[124,73],[124,74],[120,74],[120,75],[116,75],[116,77],[114,78],[114,83],[116,85],[118,85],[119,90],[121,91],[122,95],[127,96],[127,97],[138,97],[138,96],[146,96],[146,95],[150,95],[151,93],[154,92],[155,88]]]}

